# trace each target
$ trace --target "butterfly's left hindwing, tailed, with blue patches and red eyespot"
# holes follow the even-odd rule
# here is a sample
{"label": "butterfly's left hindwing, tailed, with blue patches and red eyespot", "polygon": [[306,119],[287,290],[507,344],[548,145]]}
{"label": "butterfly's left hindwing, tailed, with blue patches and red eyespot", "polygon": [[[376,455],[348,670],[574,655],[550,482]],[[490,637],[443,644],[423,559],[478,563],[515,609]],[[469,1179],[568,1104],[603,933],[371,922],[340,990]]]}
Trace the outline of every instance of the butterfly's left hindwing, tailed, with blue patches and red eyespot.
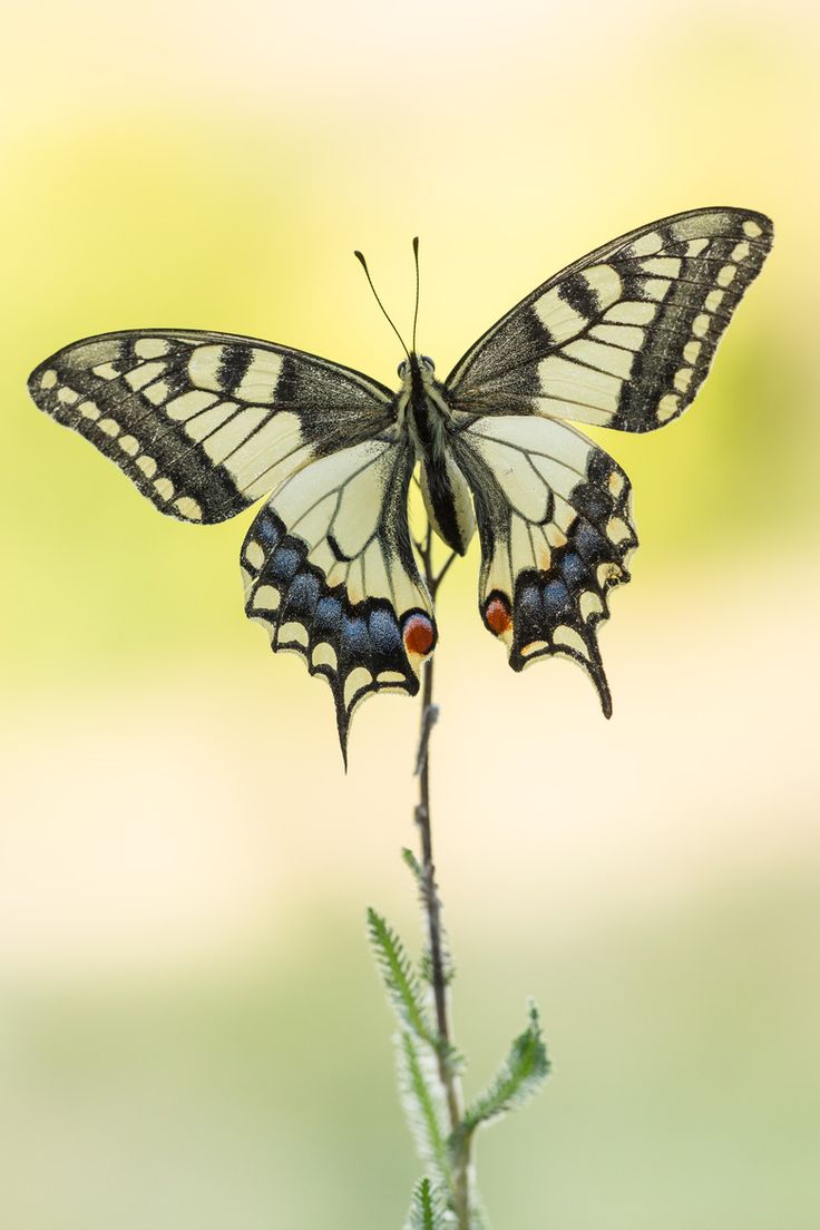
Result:
{"label": "butterfly's left hindwing, tailed, with blue patches and red eyespot", "polygon": [[414,696],[435,646],[407,525],[412,470],[395,433],[342,449],[288,478],[242,546],[246,613],[274,652],[293,649],[327,679],[345,763],[357,705]]}

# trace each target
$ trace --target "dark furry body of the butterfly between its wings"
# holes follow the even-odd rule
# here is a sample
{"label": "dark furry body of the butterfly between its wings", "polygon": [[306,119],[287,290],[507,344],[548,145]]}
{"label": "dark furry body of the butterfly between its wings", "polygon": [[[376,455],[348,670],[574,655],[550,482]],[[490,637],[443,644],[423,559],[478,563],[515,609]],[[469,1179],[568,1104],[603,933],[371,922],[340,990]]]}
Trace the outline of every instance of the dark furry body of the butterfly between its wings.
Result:
{"label": "dark furry body of the butterfly between its wings", "polygon": [[445,387],[434,376],[433,360],[414,352],[400,368],[402,387],[396,417],[416,449],[419,485],[430,524],[459,555],[467,550],[476,529],[467,481],[451,448],[452,412]]}

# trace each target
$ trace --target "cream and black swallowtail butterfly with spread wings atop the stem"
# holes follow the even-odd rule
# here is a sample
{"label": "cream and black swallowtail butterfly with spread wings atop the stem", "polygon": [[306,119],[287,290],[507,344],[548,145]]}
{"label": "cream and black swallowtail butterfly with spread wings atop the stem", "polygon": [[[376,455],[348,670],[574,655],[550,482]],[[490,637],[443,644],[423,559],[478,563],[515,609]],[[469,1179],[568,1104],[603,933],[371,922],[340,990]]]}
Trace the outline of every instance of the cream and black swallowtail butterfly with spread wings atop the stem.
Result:
{"label": "cream and black swallowtail butterfly with spread wings atop the stem", "polygon": [[478,608],[513,669],[570,657],[609,716],[597,625],[629,579],[629,481],[567,421],[649,432],[677,418],[771,244],[770,220],[744,209],[641,226],[542,283],[446,380],[413,348],[397,392],[195,330],[75,342],[28,387],[171,517],[221,522],[266,498],[242,545],[246,611],[327,679],[344,754],[359,701],[414,695],[436,642],[408,529],[414,472],[454,551],[477,524]]}

